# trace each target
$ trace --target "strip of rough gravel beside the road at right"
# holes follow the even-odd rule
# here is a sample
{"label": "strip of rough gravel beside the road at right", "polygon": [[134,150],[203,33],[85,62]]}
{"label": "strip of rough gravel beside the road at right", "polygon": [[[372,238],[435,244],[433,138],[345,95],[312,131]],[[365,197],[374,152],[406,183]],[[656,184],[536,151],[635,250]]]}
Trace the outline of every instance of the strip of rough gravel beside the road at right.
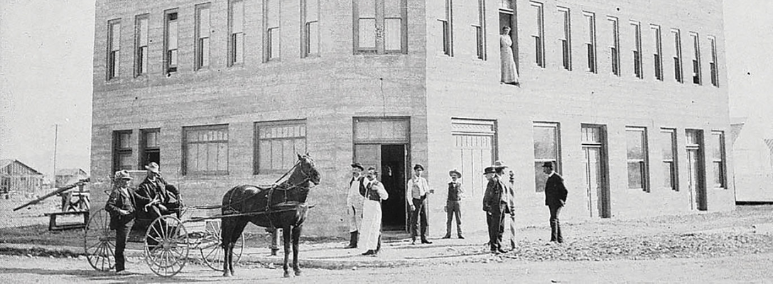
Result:
{"label": "strip of rough gravel beside the road at right", "polygon": [[520,242],[499,257],[526,261],[706,258],[773,252],[773,235],[689,233],[636,237],[584,237],[562,245]]}

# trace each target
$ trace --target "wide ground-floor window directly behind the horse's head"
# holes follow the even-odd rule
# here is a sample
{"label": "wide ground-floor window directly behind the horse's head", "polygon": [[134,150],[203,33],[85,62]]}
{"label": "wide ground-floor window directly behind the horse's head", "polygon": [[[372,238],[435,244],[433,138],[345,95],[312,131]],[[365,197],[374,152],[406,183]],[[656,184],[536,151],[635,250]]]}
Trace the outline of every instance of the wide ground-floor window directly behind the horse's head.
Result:
{"label": "wide ground-floor window directly behind the horse's head", "polygon": [[254,174],[284,172],[306,152],[306,121],[255,123]]}

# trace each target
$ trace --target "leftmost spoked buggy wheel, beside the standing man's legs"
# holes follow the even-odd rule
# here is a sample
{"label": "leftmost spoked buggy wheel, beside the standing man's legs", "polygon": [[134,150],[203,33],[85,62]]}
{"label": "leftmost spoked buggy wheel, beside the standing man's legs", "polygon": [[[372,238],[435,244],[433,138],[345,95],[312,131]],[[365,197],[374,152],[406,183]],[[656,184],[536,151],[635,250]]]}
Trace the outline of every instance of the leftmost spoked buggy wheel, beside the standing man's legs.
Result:
{"label": "leftmost spoked buggy wheel, beside the standing man's legs", "polygon": [[104,208],[94,212],[83,234],[86,259],[94,269],[110,271],[115,267],[115,234],[110,229],[110,215]]}

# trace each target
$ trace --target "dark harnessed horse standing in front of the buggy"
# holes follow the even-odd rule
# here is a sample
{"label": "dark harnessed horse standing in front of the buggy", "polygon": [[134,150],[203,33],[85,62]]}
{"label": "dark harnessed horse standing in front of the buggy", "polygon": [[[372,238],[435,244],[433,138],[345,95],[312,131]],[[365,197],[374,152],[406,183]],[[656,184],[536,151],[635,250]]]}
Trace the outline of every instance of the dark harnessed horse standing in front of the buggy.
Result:
{"label": "dark harnessed horse standing in front of the buggy", "polygon": [[[298,162],[290,171],[290,177],[281,184],[268,188],[240,185],[223,195],[223,276],[233,276],[233,245],[237,242],[247,222],[265,227],[281,228],[284,237],[284,277],[289,277],[288,257],[292,238],[292,268],[301,275],[298,267],[298,239],[306,218],[306,196],[312,186],[319,184],[319,172],[308,154],[298,155]],[[290,172],[288,171],[288,173]],[[281,180],[281,177],[280,177]]]}

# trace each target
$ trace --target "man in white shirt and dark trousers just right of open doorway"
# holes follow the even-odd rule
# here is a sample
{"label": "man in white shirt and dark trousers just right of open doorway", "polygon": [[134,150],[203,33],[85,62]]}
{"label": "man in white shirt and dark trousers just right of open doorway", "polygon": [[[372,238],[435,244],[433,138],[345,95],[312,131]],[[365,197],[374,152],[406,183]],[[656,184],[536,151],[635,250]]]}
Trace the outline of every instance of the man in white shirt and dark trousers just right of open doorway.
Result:
{"label": "man in white shirt and dark trousers just right of open doorway", "polygon": [[434,193],[434,190],[430,189],[427,179],[421,177],[422,172],[424,172],[424,167],[421,164],[416,164],[414,166],[414,177],[411,177],[410,181],[408,181],[405,193],[405,198],[410,205],[411,211],[410,239],[412,245],[416,245],[416,231],[419,221],[421,221],[421,243],[432,243],[427,240],[427,194]]}

